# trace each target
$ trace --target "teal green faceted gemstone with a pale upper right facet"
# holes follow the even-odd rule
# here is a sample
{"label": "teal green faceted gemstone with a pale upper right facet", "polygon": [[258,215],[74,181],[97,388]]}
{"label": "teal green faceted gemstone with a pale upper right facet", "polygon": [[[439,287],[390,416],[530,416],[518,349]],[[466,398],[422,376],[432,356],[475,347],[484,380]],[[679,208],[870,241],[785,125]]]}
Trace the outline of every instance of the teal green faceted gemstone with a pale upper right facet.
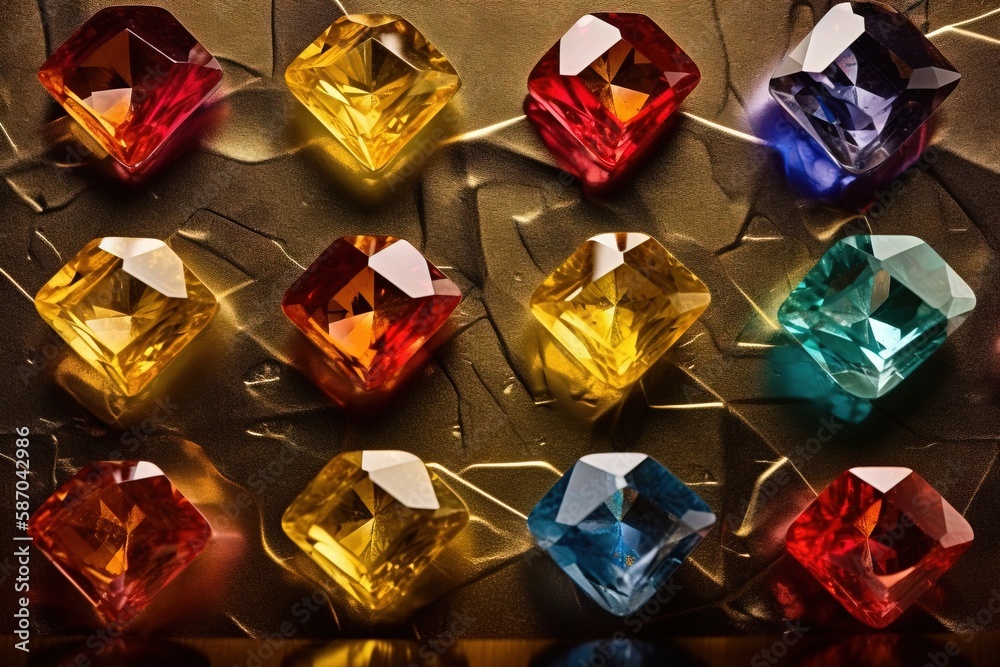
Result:
{"label": "teal green faceted gemstone with a pale upper right facet", "polygon": [[914,236],[841,239],[778,309],[778,321],[843,389],[891,391],[958,328],[972,289]]}

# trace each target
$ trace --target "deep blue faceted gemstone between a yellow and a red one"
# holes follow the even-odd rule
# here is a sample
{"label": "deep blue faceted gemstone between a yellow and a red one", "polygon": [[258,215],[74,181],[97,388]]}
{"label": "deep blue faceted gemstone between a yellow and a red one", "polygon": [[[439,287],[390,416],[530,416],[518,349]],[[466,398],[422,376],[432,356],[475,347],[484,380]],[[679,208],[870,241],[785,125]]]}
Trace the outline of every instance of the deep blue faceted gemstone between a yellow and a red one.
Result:
{"label": "deep blue faceted gemstone between a yellow and a red one", "polygon": [[538,546],[597,604],[642,608],[705,538],[715,515],[645,454],[590,454],[528,516]]}

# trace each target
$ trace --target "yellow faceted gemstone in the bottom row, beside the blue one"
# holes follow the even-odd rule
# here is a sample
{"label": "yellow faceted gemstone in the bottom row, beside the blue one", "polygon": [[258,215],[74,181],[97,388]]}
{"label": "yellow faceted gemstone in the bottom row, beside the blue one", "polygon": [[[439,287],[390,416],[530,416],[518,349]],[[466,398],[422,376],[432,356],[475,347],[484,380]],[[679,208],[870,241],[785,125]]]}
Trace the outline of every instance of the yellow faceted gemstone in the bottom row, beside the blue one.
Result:
{"label": "yellow faceted gemstone in the bottom row, beside the blue one", "polygon": [[381,610],[468,520],[462,499],[413,454],[363,451],[334,457],[281,526],[335,582]]}

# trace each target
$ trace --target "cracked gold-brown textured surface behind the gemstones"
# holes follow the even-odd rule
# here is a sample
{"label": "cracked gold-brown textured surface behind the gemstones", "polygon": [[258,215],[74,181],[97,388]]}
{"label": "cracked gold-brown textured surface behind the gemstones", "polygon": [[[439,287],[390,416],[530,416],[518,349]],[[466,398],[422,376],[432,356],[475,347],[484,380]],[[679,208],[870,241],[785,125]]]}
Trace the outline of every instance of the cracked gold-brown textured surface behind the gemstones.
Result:
{"label": "cracked gold-brown textured surface behind the gemstones", "polygon": [[[406,16],[464,81],[445,118],[452,138],[430,158],[417,155],[419,179],[382,191],[358,188],[331,166],[319,125],[302,118],[284,87],[285,66],[341,13],[329,0],[161,3],[219,57],[226,77],[221,120],[203,146],[147,183],[121,185],[78,164],[67,145],[46,143],[65,122],[35,72],[105,4],[4,5],[0,423],[8,443],[16,426],[32,429],[33,506],[81,465],[127,456],[160,464],[209,515],[217,539],[140,617],[140,632],[259,638],[291,621],[299,638],[423,639],[460,621],[468,637],[631,634],[634,624],[602,613],[531,549],[523,522],[559,471],[607,450],[653,455],[720,517],[675,576],[680,592],[638,636],[775,633],[786,616],[819,632],[865,631],[810,588],[781,542],[815,491],[855,465],[914,468],[977,531],[968,554],[892,629],[973,629],[968,619],[988,602],[1000,548],[992,514],[1000,491],[992,289],[1000,15],[976,19],[994,9],[989,2],[893,3],[932,33],[963,79],[937,116],[938,159],[903,177],[877,219],[802,198],[753,136],[768,75],[827,3],[617,3],[656,20],[703,80],[656,158],[619,194],[599,199],[561,177],[521,119],[521,103],[535,61],[605,4],[345,0],[350,11]],[[781,300],[845,226],[921,236],[979,297],[944,348],[874,405],[826,395],[774,323]],[[589,383],[527,309],[541,279],[605,231],[652,234],[713,295],[706,315],[628,395]],[[361,233],[411,240],[466,295],[425,371],[374,415],[345,412],[316,388],[312,350],[278,308],[331,241]],[[155,393],[127,408],[87,389],[88,373],[53,343],[29,298],[99,236],[168,239],[222,302]],[[860,423],[847,418],[867,411]],[[835,437],[793,465],[789,457],[831,424]],[[335,597],[300,623],[294,605],[317,573],[282,534],[282,511],[335,453],[390,447],[433,462],[474,521],[436,568],[422,608],[371,618]],[[3,463],[7,489],[13,464],[6,455]],[[32,586],[37,630],[85,634],[95,624],[40,556]],[[3,587],[3,608],[11,596]]]}

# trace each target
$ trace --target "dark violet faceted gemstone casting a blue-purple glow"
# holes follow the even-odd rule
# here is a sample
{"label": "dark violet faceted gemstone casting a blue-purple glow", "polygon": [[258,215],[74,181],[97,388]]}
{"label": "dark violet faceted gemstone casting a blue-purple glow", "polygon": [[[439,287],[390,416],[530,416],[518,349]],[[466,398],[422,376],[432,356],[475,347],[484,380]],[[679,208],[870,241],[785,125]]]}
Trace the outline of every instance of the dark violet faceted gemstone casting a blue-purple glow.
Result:
{"label": "dark violet faceted gemstone casting a blue-purple glow", "polygon": [[834,5],[771,77],[771,96],[847,171],[892,155],[960,75],[904,14]]}

